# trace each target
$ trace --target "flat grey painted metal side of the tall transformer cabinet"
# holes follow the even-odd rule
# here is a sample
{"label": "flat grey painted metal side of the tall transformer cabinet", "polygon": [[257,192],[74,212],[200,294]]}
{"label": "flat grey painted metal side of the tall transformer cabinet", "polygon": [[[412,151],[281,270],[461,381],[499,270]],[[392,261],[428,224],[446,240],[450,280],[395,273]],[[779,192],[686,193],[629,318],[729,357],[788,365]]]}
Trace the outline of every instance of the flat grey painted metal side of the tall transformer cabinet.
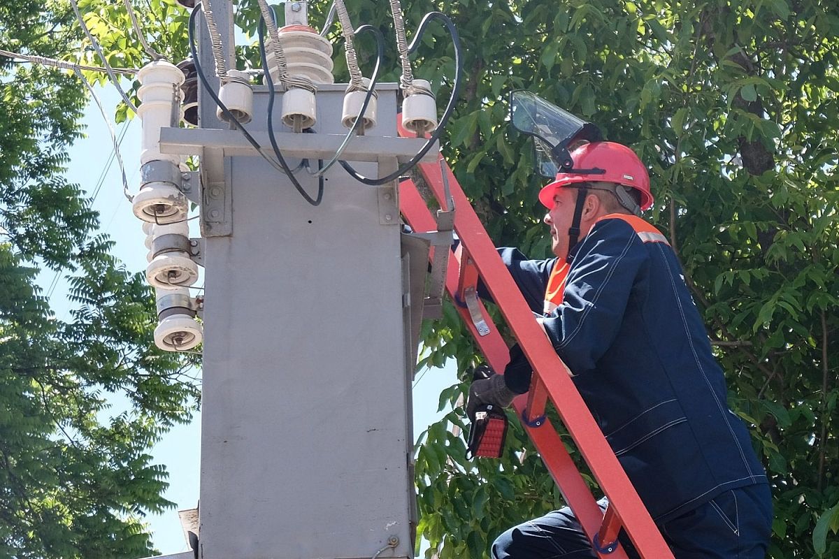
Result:
{"label": "flat grey painted metal side of the tall transformer cabinet", "polygon": [[[395,97],[380,92],[368,133],[396,136]],[[341,98],[319,92],[318,131],[341,133]],[[399,215],[384,220],[383,189],[338,165],[318,207],[261,158],[228,168],[232,235],[203,247],[201,556],[369,558],[392,536],[381,557],[413,556],[415,340]],[[317,180],[297,176],[314,196]]]}

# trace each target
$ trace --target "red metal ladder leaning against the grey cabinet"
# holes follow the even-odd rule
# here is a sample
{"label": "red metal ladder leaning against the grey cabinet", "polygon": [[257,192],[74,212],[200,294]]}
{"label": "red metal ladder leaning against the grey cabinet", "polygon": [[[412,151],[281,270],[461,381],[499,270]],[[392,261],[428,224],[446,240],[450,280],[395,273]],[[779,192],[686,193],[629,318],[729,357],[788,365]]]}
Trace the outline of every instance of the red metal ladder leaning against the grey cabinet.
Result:
{"label": "red metal ladder leaning against the grey cabinet", "polygon": [[[525,430],[539,450],[565,502],[580,520],[589,540],[597,543],[595,549],[598,556],[602,559],[627,559],[623,547],[616,543],[618,531],[623,527],[644,559],[673,559],[673,553],[664,543],[659,529],[638,498],[600,427],[591,417],[571,377],[564,373],[558,374],[559,371],[567,370],[565,364],[534,320],[524,296],[498,256],[492,240],[451,169],[445,162],[440,162],[439,166],[436,163],[420,163],[419,168],[436,199],[442,201],[441,207],[447,207],[448,204],[441,169],[447,174],[448,189],[451,189],[448,194],[451,194],[456,208],[454,229],[461,244],[456,252],[450,251],[446,290],[453,300],[469,303],[467,307],[458,305],[457,308],[493,370],[503,371],[509,354],[507,344],[498,334],[486,308],[474,297],[473,290],[478,276],[482,278],[513,330],[524,355],[534,368],[530,391],[516,398],[513,406],[519,412],[519,417],[524,419]],[[399,184],[399,207],[414,231],[430,232],[437,229],[435,218],[413,181],[405,180]],[[548,398],[554,403],[576,447],[609,499],[605,515],[565,450],[559,433],[551,426],[550,420],[544,417]]]}

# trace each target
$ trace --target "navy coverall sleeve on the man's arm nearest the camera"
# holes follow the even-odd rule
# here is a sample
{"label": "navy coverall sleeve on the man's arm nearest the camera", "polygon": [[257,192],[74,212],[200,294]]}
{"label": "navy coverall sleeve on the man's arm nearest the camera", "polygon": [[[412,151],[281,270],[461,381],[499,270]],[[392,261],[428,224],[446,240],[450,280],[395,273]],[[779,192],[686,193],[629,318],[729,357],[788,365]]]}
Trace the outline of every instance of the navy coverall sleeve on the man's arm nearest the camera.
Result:
{"label": "navy coverall sleeve on the man's arm nearest the camera", "polygon": [[565,296],[545,332],[575,375],[595,369],[612,345],[627,303],[648,258],[626,221],[598,222],[581,242],[565,284]]}

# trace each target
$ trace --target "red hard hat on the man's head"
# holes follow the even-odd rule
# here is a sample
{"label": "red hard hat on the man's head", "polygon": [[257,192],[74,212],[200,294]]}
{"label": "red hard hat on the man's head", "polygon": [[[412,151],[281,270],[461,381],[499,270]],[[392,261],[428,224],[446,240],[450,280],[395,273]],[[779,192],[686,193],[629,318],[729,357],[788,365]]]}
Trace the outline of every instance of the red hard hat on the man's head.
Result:
{"label": "red hard hat on the man's head", "polygon": [[[539,191],[539,202],[546,208],[554,207],[556,189],[593,182],[623,184],[636,189],[641,193],[641,210],[652,207],[653,194],[649,192],[647,168],[626,146],[615,142],[586,143],[571,152],[571,159],[574,160],[571,173],[557,173],[556,180]],[[592,173],[591,169],[602,169],[605,173]]]}

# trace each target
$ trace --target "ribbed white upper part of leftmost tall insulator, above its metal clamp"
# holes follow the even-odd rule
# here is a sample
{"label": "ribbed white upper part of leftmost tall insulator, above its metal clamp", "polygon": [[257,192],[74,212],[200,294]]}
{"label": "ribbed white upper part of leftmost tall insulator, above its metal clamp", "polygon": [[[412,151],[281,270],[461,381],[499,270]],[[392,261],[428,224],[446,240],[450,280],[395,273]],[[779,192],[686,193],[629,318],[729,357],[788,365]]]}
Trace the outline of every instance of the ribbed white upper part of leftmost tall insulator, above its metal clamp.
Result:
{"label": "ribbed white upper part of leftmost tall insulator, above its metal clamp", "polygon": [[[171,126],[175,91],[180,91],[184,83],[184,74],[178,67],[165,60],[157,60],[143,66],[137,73],[140,88],[137,96],[141,105],[137,114],[143,126],[143,137],[140,144],[140,163],[161,159],[176,165],[180,163],[180,155],[160,153],[160,128]],[[177,117],[183,116],[180,106],[176,106]]]}

